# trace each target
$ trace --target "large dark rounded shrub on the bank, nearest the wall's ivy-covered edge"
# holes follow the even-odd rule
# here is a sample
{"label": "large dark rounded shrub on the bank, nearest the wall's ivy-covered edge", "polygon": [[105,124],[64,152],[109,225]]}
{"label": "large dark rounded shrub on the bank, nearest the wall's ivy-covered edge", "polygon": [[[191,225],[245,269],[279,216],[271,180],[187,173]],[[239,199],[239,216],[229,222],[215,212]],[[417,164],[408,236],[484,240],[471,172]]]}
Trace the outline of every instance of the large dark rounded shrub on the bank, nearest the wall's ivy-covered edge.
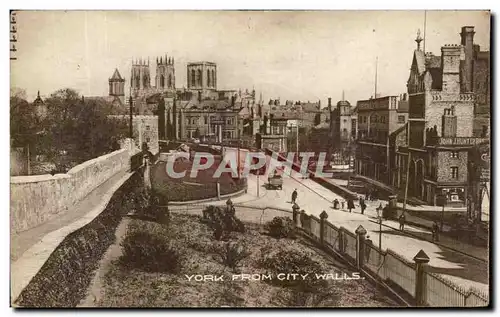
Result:
{"label": "large dark rounded shrub on the bank, nearest the wall's ivy-covered edge", "polygon": [[121,261],[146,272],[177,272],[181,266],[181,252],[159,232],[130,230],[122,241]]}

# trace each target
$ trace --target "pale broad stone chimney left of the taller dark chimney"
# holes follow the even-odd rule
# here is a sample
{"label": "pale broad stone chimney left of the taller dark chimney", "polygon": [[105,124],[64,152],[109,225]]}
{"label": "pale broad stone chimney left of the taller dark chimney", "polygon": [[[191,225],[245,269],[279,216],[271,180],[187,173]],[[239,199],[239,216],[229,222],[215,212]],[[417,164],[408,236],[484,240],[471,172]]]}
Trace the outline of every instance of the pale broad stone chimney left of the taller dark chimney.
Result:
{"label": "pale broad stone chimney left of the taller dark chimney", "polygon": [[460,56],[462,46],[441,47],[441,68],[443,72],[443,92],[460,93]]}

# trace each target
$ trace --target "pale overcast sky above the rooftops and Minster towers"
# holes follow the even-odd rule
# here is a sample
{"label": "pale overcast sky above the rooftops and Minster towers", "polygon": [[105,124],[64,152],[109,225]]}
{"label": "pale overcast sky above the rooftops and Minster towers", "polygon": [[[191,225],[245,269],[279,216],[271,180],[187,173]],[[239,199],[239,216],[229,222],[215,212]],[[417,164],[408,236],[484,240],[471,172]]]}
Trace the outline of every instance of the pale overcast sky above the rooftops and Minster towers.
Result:
{"label": "pale overcast sky above the rooftops and Minster towers", "polygon": [[[424,36],[423,11],[22,11],[17,13],[17,58],[11,86],[28,99],[70,87],[107,95],[118,68],[130,84],[132,58],[175,58],[176,86],[186,85],[186,64],[217,63],[219,89],[255,87],[264,99],[333,101],[378,93],[399,95]],[[426,51],[460,44],[461,27],[489,50],[489,13],[427,11]],[[152,84],[155,70],[151,67]]]}

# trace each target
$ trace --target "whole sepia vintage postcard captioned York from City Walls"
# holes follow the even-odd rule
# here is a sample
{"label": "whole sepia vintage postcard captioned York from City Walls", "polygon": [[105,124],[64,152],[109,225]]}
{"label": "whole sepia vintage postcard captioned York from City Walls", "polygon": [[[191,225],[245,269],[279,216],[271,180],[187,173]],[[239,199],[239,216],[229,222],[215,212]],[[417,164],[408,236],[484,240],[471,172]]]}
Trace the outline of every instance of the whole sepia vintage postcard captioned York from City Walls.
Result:
{"label": "whole sepia vintage postcard captioned York from City Walls", "polygon": [[11,306],[490,306],[490,21],[12,10]]}

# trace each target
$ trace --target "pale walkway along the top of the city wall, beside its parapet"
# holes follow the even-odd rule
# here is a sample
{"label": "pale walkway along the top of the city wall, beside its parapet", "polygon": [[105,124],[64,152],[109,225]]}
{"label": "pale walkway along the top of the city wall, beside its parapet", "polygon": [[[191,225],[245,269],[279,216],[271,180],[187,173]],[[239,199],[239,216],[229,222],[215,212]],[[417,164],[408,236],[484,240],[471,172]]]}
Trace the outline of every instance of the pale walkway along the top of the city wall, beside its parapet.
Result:
{"label": "pale walkway along the top of the city wall, beside its parapet", "polygon": [[38,227],[11,235],[11,302],[17,299],[64,238],[98,216],[116,190],[132,174],[127,170],[117,173],[67,213]]}

